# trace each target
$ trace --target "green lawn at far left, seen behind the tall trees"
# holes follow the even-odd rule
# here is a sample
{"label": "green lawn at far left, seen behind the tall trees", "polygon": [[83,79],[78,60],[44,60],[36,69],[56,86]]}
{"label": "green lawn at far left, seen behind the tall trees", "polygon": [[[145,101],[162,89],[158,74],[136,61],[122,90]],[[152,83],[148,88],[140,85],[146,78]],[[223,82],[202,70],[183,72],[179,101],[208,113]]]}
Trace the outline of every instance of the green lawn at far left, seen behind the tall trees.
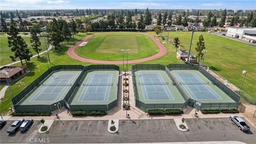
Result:
{"label": "green lawn at far left, seen behind the tall trees", "polygon": [[[25,42],[28,45],[28,49],[32,52],[33,55],[36,55],[37,53],[33,50],[31,44],[30,44],[30,37],[22,37]],[[45,42],[44,42],[44,38],[40,38],[40,42],[41,42],[41,49],[42,51],[45,51],[46,47],[45,47]],[[0,53],[1,53],[1,57],[0,57],[0,61],[1,61],[1,66],[6,65],[8,63],[13,62],[10,58],[10,55],[13,55],[13,52],[11,51],[11,48],[8,46],[8,38],[7,37],[0,37]],[[19,59],[16,59],[16,61],[19,61]]]}

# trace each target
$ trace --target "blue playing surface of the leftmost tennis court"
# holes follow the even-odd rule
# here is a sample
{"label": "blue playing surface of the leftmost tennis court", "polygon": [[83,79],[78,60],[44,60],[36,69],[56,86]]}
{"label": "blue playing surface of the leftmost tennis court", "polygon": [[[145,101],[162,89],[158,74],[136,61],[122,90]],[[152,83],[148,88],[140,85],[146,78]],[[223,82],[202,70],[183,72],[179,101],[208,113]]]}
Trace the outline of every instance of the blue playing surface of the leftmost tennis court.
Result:
{"label": "blue playing surface of the leftmost tennis court", "polygon": [[75,77],[76,75],[69,74],[52,76],[49,82],[42,84],[42,89],[29,101],[59,101]]}

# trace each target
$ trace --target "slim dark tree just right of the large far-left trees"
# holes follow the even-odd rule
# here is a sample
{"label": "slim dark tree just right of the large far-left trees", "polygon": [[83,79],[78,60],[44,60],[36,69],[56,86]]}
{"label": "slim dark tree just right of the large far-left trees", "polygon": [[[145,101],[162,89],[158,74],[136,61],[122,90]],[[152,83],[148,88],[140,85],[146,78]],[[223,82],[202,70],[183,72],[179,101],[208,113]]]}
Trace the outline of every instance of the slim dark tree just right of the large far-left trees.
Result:
{"label": "slim dark tree just right of the large far-left trees", "polygon": [[39,37],[37,36],[37,34],[38,34],[37,30],[34,27],[32,27],[30,29],[30,43],[31,43],[31,46],[33,47],[33,49],[35,50],[35,52],[37,53],[38,58],[39,58],[40,57],[39,52],[42,50],[42,49],[40,49],[41,42],[40,42]]}

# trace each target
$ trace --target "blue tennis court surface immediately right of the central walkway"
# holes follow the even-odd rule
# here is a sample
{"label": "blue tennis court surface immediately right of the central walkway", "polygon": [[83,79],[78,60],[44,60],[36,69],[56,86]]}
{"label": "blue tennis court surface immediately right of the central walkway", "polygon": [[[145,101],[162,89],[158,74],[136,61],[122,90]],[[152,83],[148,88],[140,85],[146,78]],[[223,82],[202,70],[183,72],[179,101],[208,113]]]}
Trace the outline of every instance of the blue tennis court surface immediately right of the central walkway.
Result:
{"label": "blue tennis court surface immediately right of the central walkway", "polygon": [[145,100],[174,100],[161,74],[139,74]]}

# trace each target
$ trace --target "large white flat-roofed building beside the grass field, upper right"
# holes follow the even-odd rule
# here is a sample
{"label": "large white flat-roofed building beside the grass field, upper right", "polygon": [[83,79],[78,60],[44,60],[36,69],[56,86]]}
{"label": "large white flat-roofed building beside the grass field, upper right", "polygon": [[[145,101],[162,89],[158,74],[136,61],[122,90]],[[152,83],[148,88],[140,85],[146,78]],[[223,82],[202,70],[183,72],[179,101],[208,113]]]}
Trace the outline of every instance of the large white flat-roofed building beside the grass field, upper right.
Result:
{"label": "large white flat-roofed building beside the grass field, upper right", "polygon": [[239,38],[246,42],[255,43],[256,41],[256,28],[228,28],[227,36]]}

